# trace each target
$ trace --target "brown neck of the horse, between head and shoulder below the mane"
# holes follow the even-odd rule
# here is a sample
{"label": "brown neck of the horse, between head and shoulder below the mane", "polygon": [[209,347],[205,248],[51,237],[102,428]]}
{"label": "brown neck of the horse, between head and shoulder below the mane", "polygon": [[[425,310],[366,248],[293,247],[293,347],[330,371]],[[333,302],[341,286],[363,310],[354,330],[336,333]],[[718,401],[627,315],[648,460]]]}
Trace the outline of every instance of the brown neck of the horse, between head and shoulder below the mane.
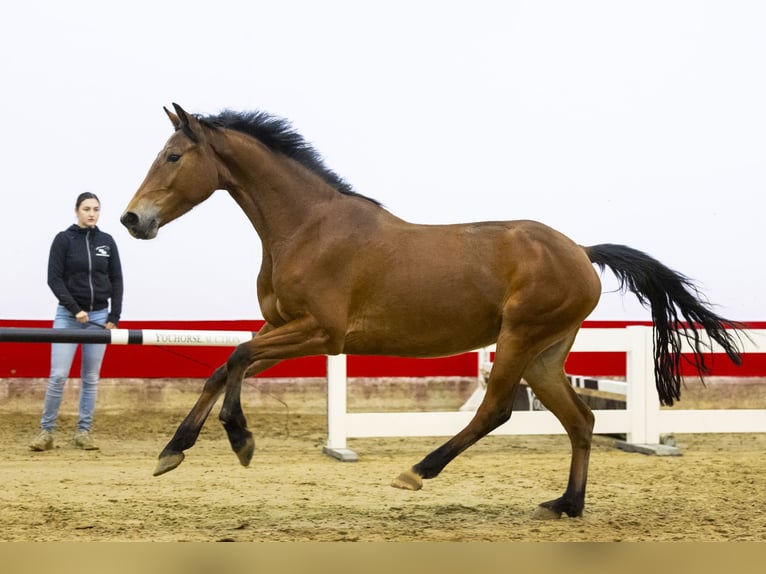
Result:
{"label": "brown neck of the horse, between head and shoulder below the mane", "polygon": [[227,168],[225,189],[269,246],[290,238],[306,220],[339,193],[298,162],[260,142],[227,134],[216,147]]}

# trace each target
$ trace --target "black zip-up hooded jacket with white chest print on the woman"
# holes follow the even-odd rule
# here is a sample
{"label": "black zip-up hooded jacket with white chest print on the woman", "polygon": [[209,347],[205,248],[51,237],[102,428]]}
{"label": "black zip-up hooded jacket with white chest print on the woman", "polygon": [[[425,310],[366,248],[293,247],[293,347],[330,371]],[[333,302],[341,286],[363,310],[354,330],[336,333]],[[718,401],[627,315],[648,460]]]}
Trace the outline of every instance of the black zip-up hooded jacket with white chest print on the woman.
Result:
{"label": "black zip-up hooded jacket with white chest print on the woman", "polygon": [[108,321],[122,313],[122,266],[117,244],[98,227],[72,225],[56,234],[48,258],[48,286],[73,315],[109,307]]}

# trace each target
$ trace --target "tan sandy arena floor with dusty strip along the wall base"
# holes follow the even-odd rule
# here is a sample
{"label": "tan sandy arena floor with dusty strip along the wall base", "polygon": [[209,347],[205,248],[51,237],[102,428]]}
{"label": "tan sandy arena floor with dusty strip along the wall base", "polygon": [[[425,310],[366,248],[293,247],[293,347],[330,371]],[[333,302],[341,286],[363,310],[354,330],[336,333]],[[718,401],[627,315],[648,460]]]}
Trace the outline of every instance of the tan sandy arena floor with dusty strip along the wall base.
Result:
{"label": "tan sandy arena floor with dusty strip along the wall base", "polygon": [[[687,389],[686,396],[763,408],[762,385],[732,391],[726,383],[702,393]],[[584,516],[538,521],[536,505],[566,485],[565,437],[486,437],[423,490],[402,491],[389,486],[391,479],[444,439],[350,439],[358,462],[326,457],[317,381],[245,386],[256,437],[249,468],[231,452],[216,408],[186,461],[153,477],[159,451],[200,384],[102,381],[95,426],[101,449],[84,452],[68,444],[78,392],[70,381],[57,447],[35,453],[27,444],[37,432],[44,382],[0,382],[0,540],[766,540],[766,435],[678,435],[680,457],[625,453],[598,437]],[[386,410],[456,408],[470,381],[359,384],[352,391],[349,404],[357,410],[381,403]]]}

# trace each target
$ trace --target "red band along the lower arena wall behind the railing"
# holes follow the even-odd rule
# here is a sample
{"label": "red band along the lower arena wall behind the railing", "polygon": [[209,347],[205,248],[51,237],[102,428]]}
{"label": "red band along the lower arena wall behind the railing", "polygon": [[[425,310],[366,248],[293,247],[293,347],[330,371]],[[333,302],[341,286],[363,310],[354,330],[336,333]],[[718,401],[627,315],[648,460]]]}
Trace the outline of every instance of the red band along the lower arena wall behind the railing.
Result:
{"label": "red band along the lower arena wall behind the railing", "polygon": [[[646,322],[586,321],[584,328],[624,328],[649,325]],[[123,321],[121,329],[176,329],[257,331],[263,321]],[[0,320],[2,327],[50,328],[51,321]],[[749,323],[763,329],[766,322]],[[226,347],[155,347],[113,345],[104,359],[103,378],[206,378],[231,353]],[[403,359],[394,357],[348,358],[349,377],[474,377],[476,353],[464,353],[438,359]],[[708,357],[710,376],[764,377],[766,354],[750,353],[740,367],[726,357]],[[50,345],[46,343],[1,343],[0,378],[43,378],[48,376]],[[79,352],[72,366],[72,376],[79,374]],[[568,373],[593,377],[625,376],[624,353],[572,353],[567,360]],[[687,375],[694,375],[687,366]],[[324,357],[306,357],[284,361],[261,373],[260,377],[324,377]]]}

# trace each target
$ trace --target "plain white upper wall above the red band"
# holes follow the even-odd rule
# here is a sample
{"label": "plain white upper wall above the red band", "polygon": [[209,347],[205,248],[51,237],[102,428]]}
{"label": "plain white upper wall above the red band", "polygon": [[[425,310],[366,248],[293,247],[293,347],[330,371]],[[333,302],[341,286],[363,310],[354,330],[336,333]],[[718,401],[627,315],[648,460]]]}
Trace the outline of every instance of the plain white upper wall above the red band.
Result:
{"label": "plain white upper wall above the red band", "polygon": [[[81,191],[120,247],[123,319],[260,317],[260,245],[225,192],[154,241],[119,224],[177,102],[289,118],[405,219],[625,243],[766,320],[765,29],[737,0],[6,2],[0,318],[52,319],[48,249]],[[591,318],[648,314],[607,293]]]}

